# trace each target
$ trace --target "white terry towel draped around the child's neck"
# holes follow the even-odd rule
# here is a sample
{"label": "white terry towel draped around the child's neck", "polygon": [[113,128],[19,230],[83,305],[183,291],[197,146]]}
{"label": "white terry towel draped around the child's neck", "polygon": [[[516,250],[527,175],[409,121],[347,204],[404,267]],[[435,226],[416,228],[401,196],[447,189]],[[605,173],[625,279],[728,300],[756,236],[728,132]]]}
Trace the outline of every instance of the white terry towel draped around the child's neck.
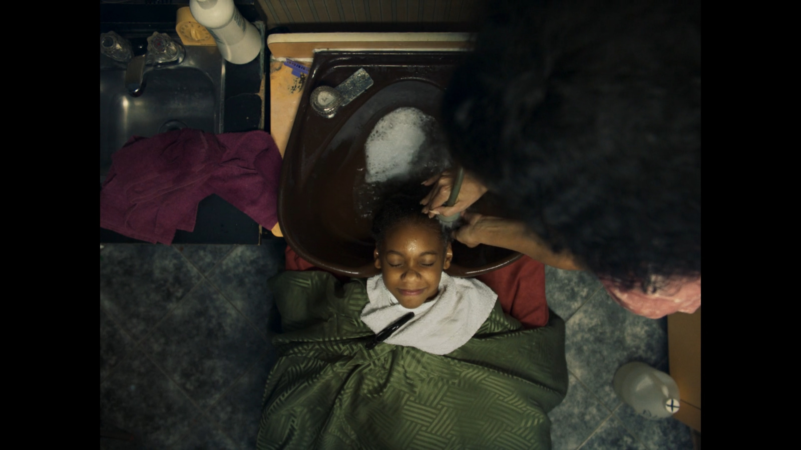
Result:
{"label": "white terry towel draped around the child's neck", "polygon": [[384,342],[415,347],[434,355],[445,355],[466,344],[489,317],[497,299],[485,283],[477,279],[455,278],[445,272],[439,293],[420,307],[403,307],[392,295],[381,275],[367,280],[370,303],[361,311],[361,319],[376,334],[412,311],[414,317]]}

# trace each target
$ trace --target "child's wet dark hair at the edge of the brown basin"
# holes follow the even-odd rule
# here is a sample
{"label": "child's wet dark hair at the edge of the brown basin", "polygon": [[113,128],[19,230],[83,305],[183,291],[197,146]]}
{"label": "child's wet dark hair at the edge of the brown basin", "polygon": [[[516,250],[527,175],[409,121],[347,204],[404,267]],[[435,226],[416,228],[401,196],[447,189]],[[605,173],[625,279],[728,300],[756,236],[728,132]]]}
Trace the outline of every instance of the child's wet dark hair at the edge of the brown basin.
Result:
{"label": "child's wet dark hair at the edge of the brown basin", "polygon": [[437,219],[429,219],[428,215],[421,212],[423,207],[420,199],[425,196],[425,189],[427,188],[421,188],[419,185],[407,187],[384,199],[384,203],[381,204],[372,219],[371,235],[379,248],[383,246],[389,231],[410,223],[430,227],[433,231],[437,231],[442,240],[442,247],[448,247],[448,243],[451,242],[450,230],[442,227]]}

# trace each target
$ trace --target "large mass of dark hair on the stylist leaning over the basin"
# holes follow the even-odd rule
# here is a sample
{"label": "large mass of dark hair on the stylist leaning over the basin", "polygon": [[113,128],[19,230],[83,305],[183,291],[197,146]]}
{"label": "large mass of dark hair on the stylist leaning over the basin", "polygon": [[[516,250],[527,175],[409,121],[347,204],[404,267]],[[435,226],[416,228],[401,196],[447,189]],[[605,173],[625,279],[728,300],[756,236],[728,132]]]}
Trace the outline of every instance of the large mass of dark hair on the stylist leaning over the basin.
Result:
{"label": "large mass of dark hair on the stylist leaning over the basin", "polygon": [[598,276],[700,275],[700,2],[490,8],[445,94],[454,159]]}

